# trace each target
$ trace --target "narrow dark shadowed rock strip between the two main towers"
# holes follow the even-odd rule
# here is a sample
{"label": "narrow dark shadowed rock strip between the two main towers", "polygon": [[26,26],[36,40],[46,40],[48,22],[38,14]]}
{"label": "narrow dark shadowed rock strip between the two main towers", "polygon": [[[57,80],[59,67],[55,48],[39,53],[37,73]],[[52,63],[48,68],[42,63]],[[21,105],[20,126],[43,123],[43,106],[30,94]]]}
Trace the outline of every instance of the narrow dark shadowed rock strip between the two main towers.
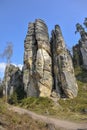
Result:
{"label": "narrow dark shadowed rock strip between the two main towers", "polygon": [[[55,28],[56,29],[56,28]],[[59,35],[60,33],[58,33]],[[61,87],[61,66],[60,58],[58,57],[57,48],[58,43],[61,39],[58,39],[57,31],[52,31],[52,38],[51,38],[51,52],[52,52],[52,74],[53,74],[53,92],[55,91],[58,94],[58,97],[61,97],[63,91]],[[62,47],[61,47],[62,48]]]}

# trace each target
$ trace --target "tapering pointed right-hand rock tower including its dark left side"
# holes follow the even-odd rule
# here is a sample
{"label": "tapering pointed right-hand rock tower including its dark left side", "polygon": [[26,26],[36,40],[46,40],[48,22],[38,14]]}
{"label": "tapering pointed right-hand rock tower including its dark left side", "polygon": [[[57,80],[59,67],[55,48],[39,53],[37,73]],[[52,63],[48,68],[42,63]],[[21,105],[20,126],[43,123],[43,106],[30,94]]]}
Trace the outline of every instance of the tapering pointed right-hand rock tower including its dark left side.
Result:
{"label": "tapering pointed right-hand rock tower including its dark left side", "polygon": [[74,76],[72,59],[65,47],[60,27],[55,26],[51,38],[53,89],[58,95],[73,98],[78,87]]}

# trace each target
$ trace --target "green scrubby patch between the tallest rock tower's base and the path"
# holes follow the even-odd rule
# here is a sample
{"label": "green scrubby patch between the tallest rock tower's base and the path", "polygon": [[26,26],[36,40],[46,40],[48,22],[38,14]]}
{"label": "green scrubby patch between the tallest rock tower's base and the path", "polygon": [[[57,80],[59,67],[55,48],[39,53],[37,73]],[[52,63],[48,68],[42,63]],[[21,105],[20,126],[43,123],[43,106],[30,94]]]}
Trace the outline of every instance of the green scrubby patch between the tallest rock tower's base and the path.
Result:
{"label": "green scrubby patch between the tallest rock tower's base and the path", "polygon": [[47,97],[28,97],[21,101],[20,106],[39,114],[49,115],[52,114],[51,110],[54,107],[54,102]]}

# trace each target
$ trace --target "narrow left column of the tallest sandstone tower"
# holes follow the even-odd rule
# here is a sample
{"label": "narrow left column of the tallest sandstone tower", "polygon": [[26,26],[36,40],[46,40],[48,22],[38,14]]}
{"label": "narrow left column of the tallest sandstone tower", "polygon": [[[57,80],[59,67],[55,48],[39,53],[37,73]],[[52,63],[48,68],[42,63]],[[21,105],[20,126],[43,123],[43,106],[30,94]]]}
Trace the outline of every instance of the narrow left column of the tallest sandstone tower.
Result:
{"label": "narrow left column of the tallest sandstone tower", "polygon": [[37,41],[35,38],[35,23],[29,23],[25,39],[23,82],[27,96],[39,95],[36,80]]}

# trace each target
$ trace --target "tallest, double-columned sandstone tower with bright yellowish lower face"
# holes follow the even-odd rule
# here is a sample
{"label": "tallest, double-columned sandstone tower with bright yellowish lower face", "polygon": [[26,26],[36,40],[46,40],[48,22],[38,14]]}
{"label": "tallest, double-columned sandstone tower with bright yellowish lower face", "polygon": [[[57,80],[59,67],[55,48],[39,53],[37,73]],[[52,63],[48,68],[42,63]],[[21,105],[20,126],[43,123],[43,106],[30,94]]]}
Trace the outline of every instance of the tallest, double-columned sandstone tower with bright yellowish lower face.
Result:
{"label": "tallest, double-columned sandstone tower with bright yellowish lower face", "polygon": [[48,29],[44,21],[38,19],[29,24],[25,39],[23,82],[27,96],[50,96],[51,65]]}

